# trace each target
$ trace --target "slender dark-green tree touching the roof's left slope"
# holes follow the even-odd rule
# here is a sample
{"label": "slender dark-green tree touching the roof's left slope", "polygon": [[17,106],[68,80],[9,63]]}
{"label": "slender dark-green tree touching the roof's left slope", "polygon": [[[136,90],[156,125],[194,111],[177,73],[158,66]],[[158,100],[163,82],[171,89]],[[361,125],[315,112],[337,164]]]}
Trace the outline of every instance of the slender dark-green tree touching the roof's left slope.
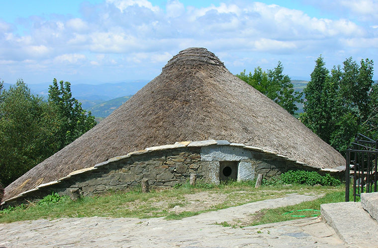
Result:
{"label": "slender dark-green tree touching the roof's left slope", "polygon": [[95,117],[91,112],[86,113],[82,104],[72,97],[70,82],[60,81],[59,85],[54,78],[49,87],[48,103],[52,106],[59,118],[59,128],[55,135],[59,139],[59,148],[62,149],[95,126]]}

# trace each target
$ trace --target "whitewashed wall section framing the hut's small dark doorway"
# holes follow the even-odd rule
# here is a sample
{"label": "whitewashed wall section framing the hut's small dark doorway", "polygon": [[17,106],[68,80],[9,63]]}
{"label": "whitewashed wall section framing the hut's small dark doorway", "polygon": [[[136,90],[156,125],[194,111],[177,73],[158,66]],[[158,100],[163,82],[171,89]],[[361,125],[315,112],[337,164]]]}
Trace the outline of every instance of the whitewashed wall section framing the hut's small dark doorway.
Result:
{"label": "whitewashed wall section framing the hut's small dark doorway", "polygon": [[253,154],[237,146],[210,145],[201,147],[201,161],[209,161],[209,177],[212,183],[219,184],[219,161],[237,161],[238,181],[253,180],[255,178],[255,168],[250,160]]}

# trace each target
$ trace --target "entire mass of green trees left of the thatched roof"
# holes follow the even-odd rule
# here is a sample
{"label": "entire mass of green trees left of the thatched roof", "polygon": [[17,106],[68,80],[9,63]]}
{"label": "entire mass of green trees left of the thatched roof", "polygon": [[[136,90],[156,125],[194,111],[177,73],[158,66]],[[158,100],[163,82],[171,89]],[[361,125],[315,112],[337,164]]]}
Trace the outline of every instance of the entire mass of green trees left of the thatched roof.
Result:
{"label": "entire mass of green trees left of the thatched roof", "polygon": [[[59,103],[65,111],[31,94],[21,79],[8,90],[0,83],[0,179],[5,186],[94,126],[94,117],[81,109],[69,87],[63,95]],[[63,132],[76,136],[63,137]]]}

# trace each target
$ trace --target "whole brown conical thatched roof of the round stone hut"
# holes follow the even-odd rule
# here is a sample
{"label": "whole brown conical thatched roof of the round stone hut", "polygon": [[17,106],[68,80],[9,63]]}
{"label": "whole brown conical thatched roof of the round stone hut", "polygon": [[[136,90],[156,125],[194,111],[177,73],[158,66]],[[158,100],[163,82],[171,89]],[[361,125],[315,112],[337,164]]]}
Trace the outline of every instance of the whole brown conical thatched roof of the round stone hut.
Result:
{"label": "whole brown conical thatched roof of the round stone hut", "polygon": [[260,147],[318,168],[345,164],[336,150],[231,74],[214,54],[189,48],[104,121],[7,186],[4,199],[131,151],[206,139]]}

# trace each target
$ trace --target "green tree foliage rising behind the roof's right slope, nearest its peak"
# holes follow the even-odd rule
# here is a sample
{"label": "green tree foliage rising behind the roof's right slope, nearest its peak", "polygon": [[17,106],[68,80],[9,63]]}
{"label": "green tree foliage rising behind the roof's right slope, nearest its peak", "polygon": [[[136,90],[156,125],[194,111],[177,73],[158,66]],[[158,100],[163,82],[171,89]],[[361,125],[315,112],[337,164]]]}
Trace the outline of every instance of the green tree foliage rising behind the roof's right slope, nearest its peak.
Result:
{"label": "green tree foliage rising behind the roof's right slope, nearest its peak", "polygon": [[261,67],[256,67],[253,74],[249,72],[247,75],[244,70],[236,76],[275,101],[291,115],[298,110],[296,103],[301,102],[302,93],[294,92],[290,77],[283,74],[281,61],[267,72]]}

